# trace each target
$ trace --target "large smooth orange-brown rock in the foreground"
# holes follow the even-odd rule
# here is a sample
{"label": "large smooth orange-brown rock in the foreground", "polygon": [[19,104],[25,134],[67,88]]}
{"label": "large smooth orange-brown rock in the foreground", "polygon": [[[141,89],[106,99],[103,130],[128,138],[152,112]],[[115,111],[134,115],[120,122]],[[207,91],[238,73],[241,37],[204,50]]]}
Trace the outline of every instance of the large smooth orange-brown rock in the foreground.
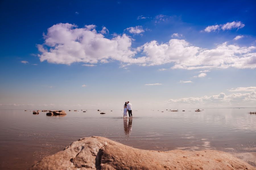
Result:
{"label": "large smooth orange-brown rock in the foreground", "polygon": [[31,167],[39,169],[256,169],[226,152],[216,150],[168,152],[141,150],[104,137],[73,142]]}

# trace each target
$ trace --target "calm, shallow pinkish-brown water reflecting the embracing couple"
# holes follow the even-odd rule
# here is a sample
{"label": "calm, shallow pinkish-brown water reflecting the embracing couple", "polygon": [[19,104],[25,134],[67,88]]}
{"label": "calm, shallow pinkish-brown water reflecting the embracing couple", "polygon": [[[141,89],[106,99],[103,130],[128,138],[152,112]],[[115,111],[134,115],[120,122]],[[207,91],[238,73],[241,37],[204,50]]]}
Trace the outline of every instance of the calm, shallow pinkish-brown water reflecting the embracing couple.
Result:
{"label": "calm, shallow pinkish-brown water reflecting the embracing couple", "polygon": [[[248,114],[255,108],[194,110],[134,110],[133,119],[123,119],[121,110],[101,110],[106,114],[66,111],[65,116],[1,110],[0,168],[26,169],[72,141],[89,136],[147,150],[215,149],[256,155],[256,115]],[[255,165],[255,158],[250,158],[251,165]]]}

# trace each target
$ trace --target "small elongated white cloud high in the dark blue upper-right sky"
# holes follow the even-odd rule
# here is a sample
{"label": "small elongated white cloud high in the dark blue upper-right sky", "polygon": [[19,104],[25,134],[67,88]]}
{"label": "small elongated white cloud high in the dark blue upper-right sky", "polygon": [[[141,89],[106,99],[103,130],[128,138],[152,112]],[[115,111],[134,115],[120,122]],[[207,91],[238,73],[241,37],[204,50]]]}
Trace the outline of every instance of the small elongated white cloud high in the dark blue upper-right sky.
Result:
{"label": "small elongated white cloud high in the dark blue upper-right sky", "polygon": [[241,21],[233,21],[233,22],[227,22],[226,24],[220,24],[220,25],[210,25],[205,28],[205,32],[211,32],[211,31],[216,31],[222,29],[227,30],[227,29],[240,29],[243,28],[245,25]]}

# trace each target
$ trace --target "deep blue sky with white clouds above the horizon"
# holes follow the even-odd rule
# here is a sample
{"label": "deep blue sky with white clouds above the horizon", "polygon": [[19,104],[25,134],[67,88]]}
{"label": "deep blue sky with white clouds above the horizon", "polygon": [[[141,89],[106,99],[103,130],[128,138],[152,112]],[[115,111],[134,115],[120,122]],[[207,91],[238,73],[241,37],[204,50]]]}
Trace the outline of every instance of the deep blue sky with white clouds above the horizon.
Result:
{"label": "deep blue sky with white clouds above the horizon", "polygon": [[1,1],[0,109],[256,107],[255,1]]}

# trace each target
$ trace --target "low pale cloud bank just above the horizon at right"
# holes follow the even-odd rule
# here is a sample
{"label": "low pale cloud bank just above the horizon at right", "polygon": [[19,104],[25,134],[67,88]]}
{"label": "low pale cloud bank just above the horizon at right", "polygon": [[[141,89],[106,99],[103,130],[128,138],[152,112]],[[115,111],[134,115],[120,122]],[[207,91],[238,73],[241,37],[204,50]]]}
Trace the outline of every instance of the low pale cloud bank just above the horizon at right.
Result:
{"label": "low pale cloud bank just above the horizon at right", "polygon": [[226,95],[220,93],[218,95],[203,96],[203,97],[187,97],[181,99],[170,99],[170,103],[185,103],[185,104],[225,104],[225,103],[255,103],[256,92],[251,93],[233,93]]}

